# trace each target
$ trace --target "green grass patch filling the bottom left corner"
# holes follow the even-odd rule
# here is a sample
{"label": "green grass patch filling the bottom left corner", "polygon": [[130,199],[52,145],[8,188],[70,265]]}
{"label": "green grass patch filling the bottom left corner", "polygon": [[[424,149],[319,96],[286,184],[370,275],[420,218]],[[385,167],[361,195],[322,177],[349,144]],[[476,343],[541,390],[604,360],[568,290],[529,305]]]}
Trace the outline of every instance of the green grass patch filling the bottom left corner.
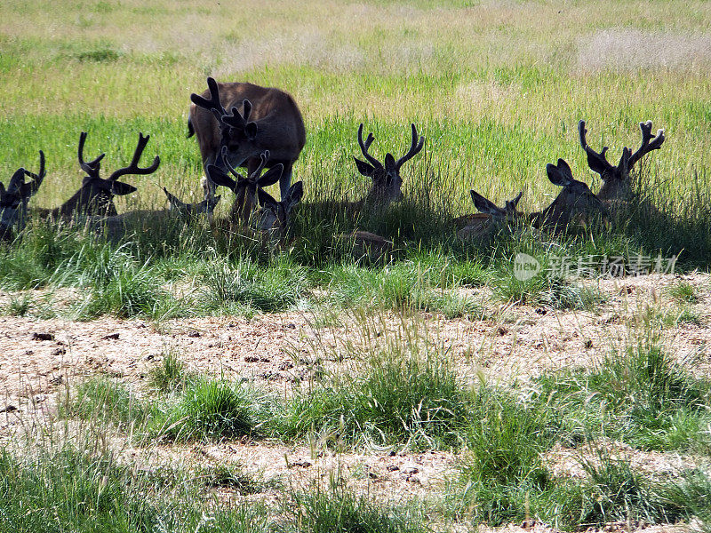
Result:
{"label": "green grass patch filling the bottom left corner", "polygon": [[91,449],[41,449],[34,458],[3,449],[0,528],[18,533],[270,530],[261,505],[201,505],[188,475],[164,474],[118,465],[116,457]]}

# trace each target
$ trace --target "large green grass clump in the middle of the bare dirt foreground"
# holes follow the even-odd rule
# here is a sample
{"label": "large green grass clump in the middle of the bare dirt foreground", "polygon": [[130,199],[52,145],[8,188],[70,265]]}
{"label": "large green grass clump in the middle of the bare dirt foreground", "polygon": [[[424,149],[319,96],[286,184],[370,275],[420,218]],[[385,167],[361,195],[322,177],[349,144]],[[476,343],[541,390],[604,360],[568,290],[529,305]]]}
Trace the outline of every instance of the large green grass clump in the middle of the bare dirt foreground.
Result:
{"label": "large green grass clump in the middle of the bare dirt foreground", "polygon": [[276,423],[283,438],[315,435],[325,443],[459,446],[467,424],[467,388],[437,353],[388,346],[356,375],[316,385],[286,402]]}

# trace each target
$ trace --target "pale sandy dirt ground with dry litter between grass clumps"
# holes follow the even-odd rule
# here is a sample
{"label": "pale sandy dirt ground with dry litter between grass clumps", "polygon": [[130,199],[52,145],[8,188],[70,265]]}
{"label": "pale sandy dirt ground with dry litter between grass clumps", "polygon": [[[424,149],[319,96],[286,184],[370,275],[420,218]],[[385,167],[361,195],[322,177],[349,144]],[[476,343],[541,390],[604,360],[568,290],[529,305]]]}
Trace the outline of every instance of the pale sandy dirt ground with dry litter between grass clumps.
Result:
{"label": "pale sandy dirt ground with dry litter between grass clumps", "polygon": [[[291,312],[244,317],[181,319],[151,323],[102,317],[91,322],[61,318],[0,316],[0,439],[19,438],[28,419],[52,424],[61,394],[84,378],[107,375],[147,389],[151,368],[165,354],[178,354],[189,370],[291,394],[318,370],[353,371],[361,350],[385,342],[421,342],[447,357],[462,377],[525,382],[547,370],[587,367],[635,338],[635,324],[655,313],[679,308],[668,294],[676,283],[690,282],[699,302],[692,305],[699,324],[667,326],[663,341],[697,375],[711,377],[711,276],[654,275],[601,280],[595,286],[606,301],[587,311],[520,306],[472,290],[491,318],[445,320],[433,314],[378,313],[365,320],[342,313],[324,321],[315,313]],[[12,295],[0,293],[0,306]],[[329,325],[323,325],[323,324]],[[412,341],[411,339],[415,340]],[[410,340],[408,340],[410,339]],[[118,439],[121,441],[121,439]],[[334,473],[363,492],[402,501],[426,499],[442,489],[457,457],[450,452],[412,453],[399,449],[363,449],[334,453],[319,442],[289,447],[276,442],[222,442],[160,445],[151,449],[117,444],[124,457],[156,465],[240,465],[266,481],[308,484]],[[611,442],[633,465],[653,476],[674,477],[697,462],[676,454],[641,453]],[[557,447],[549,454],[559,475],[582,475],[575,450]],[[216,489],[220,497],[241,497]],[[261,497],[276,497],[267,490]],[[521,525],[511,525],[516,530]],[[540,524],[526,530],[544,531]],[[620,526],[621,529],[624,529]],[[669,528],[672,528],[671,526]],[[650,529],[653,531],[678,530]]]}

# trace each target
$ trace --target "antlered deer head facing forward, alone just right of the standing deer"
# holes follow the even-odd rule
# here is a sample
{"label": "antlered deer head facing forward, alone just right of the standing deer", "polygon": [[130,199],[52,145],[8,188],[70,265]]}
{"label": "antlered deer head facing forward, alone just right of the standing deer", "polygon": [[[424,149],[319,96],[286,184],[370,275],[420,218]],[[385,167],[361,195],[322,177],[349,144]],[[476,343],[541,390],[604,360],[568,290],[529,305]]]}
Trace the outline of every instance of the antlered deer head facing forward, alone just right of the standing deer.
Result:
{"label": "antlered deer head facing forward, alone just right of the standing deer", "polygon": [[363,142],[363,124],[361,123],[358,126],[358,144],[361,147],[361,152],[363,152],[363,157],[368,163],[361,161],[357,157],[354,157],[354,159],[356,160],[358,171],[366,178],[372,179],[372,187],[368,195],[363,199],[364,203],[387,205],[403,199],[403,179],[400,177],[400,167],[403,166],[403,163],[419,154],[422,147],[425,146],[424,137],[420,137],[418,142],[415,124],[411,124],[411,128],[412,141],[407,154],[395,161],[395,157],[388,152],[385,155],[385,164],[383,164],[368,154],[368,148],[371,147],[371,143],[375,139],[372,133],[369,133],[368,138]]}

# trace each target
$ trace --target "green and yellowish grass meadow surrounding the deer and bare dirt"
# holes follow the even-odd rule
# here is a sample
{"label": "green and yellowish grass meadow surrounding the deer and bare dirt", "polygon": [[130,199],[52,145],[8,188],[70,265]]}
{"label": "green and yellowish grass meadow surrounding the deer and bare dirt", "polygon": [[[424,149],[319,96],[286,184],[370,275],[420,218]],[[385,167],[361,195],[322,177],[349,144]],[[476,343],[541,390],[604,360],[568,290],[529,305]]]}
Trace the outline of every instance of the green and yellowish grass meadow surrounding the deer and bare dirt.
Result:
{"label": "green and yellowish grass meadow surrounding the deer and bare dirt", "polygon": [[[290,92],[307,142],[292,178],[304,182],[304,199],[279,245],[177,220],[110,243],[81,225],[29,219],[0,243],[2,320],[137,319],[170,332],[181,319],[308,315],[317,333],[343,331],[345,355],[314,341],[306,361],[280,347],[294,350],[296,377],[278,392],[268,378],[197,371],[184,346],[165,347],[139,386],[77,370],[55,387],[52,409],[32,411],[36,425],[20,425],[27,434],[0,427],[0,530],[629,530],[693,521],[711,531],[711,379],[669,346],[683,328],[702,338],[711,320],[710,69],[711,3],[700,0],[3,0],[0,180],[20,166],[36,171],[43,150],[47,176],[30,208],[60,205],[80,187],[81,131],[85,159],[106,153],[104,177],[128,164],[139,131],[150,135],[142,163],[161,157],[156,173],[124,178],[138,190],[116,198],[119,212],[164,209],[162,187],[201,200],[187,121],[189,95],[206,89],[207,76]],[[613,164],[623,147],[639,147],[640,122],[664,129],[664,145],[633,172],[634,202],[559,235],[515,223],[479,241],[456,238],[453,219],[475,212],[470,189],[497,205],[523,191],[519,210],[545,208],[560,190],[546,164],[558,158],[599,190],[579,146],[581,119],[588,144],[609,147]],[[338,203],[370,186],[353,160],[362,157],[360,123],[380,159],[404,155],[410,123],[427,140],[403,165],[403,201],[350,219]],[[218,220],[233,200],[220,192]],[[357,253],[343,237],[356,229],[393,250]],[[543,272],[517,279],[520,252]],[[651,303],[633,309],[595,275],[547,269],[563,256],[678,256],[677,272],[702,281],[652,290]],[[461,323],[505,338],[531,316],[575,322],[610,301],[624,316],[603,322],[601,335],[608,342],[608,324],[622,324],[619,346],[595,338],[602,358],[505,383],[483,378],[485,342],[455,349],[423,333]],[[396,333],[380,330],[393,321]],[[593,346],[582,337],[579,345]],[[375,479],[356,468],[356,481],[344,469],[303,486],[242,465],[183,468],[159,457],[143,468],[124,457],[133,447],[194,447],[202,457],[201,446],[233,445],[300,446],[313,457],[343,454],[344,465],[391,452],[454,459],[436,489],[386,505],[353,488]],[[555,472],[550,457],[561,449],[577,457],[577,477]],[[698,467],[673,479],[636,468],[635,454],[662,453]]]}

